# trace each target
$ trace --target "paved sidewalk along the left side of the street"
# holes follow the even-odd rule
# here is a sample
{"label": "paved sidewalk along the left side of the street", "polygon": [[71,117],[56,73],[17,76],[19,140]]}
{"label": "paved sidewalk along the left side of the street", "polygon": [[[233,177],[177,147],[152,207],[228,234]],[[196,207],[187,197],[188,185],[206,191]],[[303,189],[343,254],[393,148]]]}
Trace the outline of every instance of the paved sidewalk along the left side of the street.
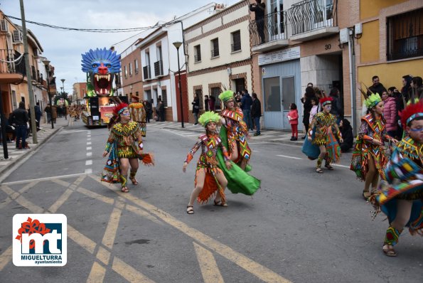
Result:
{"label": "paved sidewalk along the left side of the street", "polygon": [[48,138],[50,138],[55,132],[62,129],[65,126],[68,126],[69,118],[58,118],[54,124],[54,129],[51,129],[51,124],[41,124],[41,130],[37,132],[38,144],[33,144],[32,135],[26,139],[30,149],[16,149],[14,142],[7,143],[7,152],[9,154],[9,159],[4,159],[4,150],[3,144],[0,143],[0,175],[16,162],[23,159],[25,156],[28,156],[31,152],[35,151],[44,144]]}

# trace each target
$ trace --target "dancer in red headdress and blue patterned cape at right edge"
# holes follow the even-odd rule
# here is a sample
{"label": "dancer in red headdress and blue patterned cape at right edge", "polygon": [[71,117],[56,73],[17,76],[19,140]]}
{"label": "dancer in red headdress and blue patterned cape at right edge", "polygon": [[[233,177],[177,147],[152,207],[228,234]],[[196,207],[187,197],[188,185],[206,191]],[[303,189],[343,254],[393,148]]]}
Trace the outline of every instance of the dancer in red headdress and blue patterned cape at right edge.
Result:
{"label": "dancer in red headdress and blue patterned cape at right edge", "polygon": [[423,236],[423,102],[409,105],[400,114],[406,136],[397,144],[382,175],[380,188],[371,196],[375,215],[382,210],[390,226],[382,250],[397,256],[394,246],[402,230]]}

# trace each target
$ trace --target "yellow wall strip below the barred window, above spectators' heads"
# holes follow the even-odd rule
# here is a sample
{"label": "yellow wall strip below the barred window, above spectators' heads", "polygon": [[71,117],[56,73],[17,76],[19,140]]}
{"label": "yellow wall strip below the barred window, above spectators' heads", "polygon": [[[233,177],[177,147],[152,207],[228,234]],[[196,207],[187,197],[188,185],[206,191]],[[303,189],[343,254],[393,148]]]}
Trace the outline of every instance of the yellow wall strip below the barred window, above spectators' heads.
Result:
{"label": "yellow wall strip below the barred window, above spectators' heads", "polygon": [[[372,85],[372,77],[377,75],[386,89],[388,87],[397,87],[398,90],[401,90],[402,76],[419,75],[418,70],[422,69],[422,65],[423,59],[417,59],[358,67],[357,82],[358,84],[363,82],[370,87]],[[413,71],[417,73],[413,73]]]}

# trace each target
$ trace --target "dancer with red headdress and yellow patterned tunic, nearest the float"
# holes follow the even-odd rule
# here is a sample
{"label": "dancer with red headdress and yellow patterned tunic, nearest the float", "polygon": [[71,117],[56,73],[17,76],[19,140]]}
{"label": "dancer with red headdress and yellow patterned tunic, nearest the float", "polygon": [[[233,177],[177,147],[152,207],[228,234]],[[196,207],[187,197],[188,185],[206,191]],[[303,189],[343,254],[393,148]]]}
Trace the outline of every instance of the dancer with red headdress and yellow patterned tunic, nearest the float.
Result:
{"label": "dancer with red headdress and yellow patterned tunic, nearest the float", "polygon": [[153,164],[150,154],[143,154],[141,131],[138,123],[130,121],[128,105],[121,103],[114,107],[114,116],[117,117],[116,124],[110,130],[109,139],[103,157],[109,154],[105,170],[102,174],[102,181],[108,183],[121,183],[121,191],[128,193],[127,176],[129,166],[131,167],[129,179],[133,185],[138,185],[135,175],[138,171],[139,161],[144,164]]}

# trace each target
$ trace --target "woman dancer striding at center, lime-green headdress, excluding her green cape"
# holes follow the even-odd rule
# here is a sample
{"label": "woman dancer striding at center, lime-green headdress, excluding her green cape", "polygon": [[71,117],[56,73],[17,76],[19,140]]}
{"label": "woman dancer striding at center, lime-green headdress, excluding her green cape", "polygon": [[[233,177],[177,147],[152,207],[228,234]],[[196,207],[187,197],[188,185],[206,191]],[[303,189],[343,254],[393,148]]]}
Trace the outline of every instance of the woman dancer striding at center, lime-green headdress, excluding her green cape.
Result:
{"label": "woman dancer striding at center, lime-green headdress, excluding her green cape", "polygon": [[196,178],[194,181],[194,190],[191,193],[191,198],[188,203],[186,213],[193,214],[194,201],[198,203],[207,202],[215,194],[215,205],[227,206],[224,190],[227,185],[225,175],[222,170],[218,168],[218,160],[216,154],[218,149],[222,149],[223,156],[225,156],[225,166],[228,170],[231,169],[227,149],[222,144],[217,132],[217,124],[220,120],[219,114],[215,112],[205,112],[200,116],[198,122],[205,127],[205,134],[198,137],[198,142],[193,146],[193,149],[188,153],[183,163],[183,172],[186,171],[186,166],[193,159],[194,154],[198,149],[201,149],[201,155],[197,162]]}

